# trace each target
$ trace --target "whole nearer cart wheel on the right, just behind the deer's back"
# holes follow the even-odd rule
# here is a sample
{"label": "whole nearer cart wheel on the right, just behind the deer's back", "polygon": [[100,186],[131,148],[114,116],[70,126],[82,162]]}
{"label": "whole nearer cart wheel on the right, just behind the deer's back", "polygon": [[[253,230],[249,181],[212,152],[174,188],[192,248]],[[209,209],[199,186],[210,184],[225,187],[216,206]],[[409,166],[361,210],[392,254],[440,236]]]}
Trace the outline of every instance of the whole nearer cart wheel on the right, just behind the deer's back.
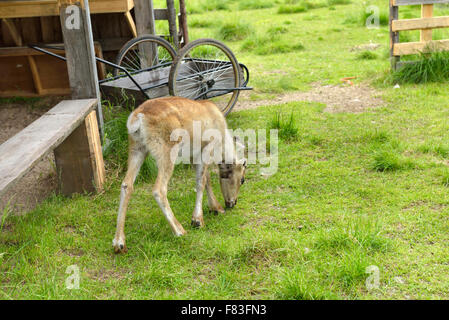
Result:
{"label": "whole nearer cart wheel on the right, just behind the deer's back", "polygon": [[170,69],[169,92],[194,100],[208,99],[227,115],[239,96],[242,70],[232,51],[214,39],[198,39],[182,48]]}

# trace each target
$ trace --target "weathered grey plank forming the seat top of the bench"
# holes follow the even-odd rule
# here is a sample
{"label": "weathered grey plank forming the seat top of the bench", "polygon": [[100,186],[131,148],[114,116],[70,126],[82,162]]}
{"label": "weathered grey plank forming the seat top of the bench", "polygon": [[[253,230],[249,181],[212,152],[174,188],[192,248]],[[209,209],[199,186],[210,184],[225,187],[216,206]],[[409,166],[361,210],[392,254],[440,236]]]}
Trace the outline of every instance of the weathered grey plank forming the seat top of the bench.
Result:
{"label": "weathered grey plank forming the seat top of the bench", "polygon": [[62,101],[0,145],[0,195],[83,123],[96,103],[96,99]]}

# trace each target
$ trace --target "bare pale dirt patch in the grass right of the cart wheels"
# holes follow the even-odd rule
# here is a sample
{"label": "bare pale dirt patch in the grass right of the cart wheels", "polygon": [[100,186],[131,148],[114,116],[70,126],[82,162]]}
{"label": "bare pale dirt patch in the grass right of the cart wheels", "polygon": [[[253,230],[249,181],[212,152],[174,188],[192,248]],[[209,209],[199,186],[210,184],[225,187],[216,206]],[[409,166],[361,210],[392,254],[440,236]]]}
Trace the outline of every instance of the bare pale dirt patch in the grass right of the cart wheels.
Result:
{"label": "bare pale dirt patch in the grass right of the cart wheels", "polygon": [[[327,107],[325,112],[361,113],[382,106],[378,93],[366,85],[320,85],[313,84],[308,92],[291,92],[278,95],[271,100],[248,100],[249,93],[242,93],[234,111],[254,109],[267,105],[283,104],[293,101],[319,102]],[[245,99],[246,98],[246,99]]]}

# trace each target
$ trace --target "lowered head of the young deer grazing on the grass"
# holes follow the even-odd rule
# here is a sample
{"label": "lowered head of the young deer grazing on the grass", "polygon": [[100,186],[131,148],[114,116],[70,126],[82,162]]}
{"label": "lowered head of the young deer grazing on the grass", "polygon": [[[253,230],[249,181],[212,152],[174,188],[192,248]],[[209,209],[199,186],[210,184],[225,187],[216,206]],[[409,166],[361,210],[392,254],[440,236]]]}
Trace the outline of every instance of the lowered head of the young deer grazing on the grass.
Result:
{"label": "lowered head of the young deer grazing on the grass", "polygon": [[237,204],[240,186],[245,182],[246,159],[235,159],[232,164],[219,164],[218,169],[220,171],[221,192],[226,207],[232,208]]}

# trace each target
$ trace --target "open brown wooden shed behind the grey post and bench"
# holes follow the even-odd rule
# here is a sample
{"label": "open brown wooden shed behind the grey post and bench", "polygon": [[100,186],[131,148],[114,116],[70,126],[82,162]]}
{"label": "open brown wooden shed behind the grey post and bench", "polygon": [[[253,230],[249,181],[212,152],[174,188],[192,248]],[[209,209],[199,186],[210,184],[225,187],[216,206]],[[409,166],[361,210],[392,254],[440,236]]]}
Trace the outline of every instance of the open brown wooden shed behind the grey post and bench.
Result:
{"label": "open brown wooden shed behind the grey post and bench", "polygon": [[[133,0],[90,0],[97,56],[114,60],[117,51],[137,35]],[[70,93],[64,61],[27,45],[63,43],[58,0],[0,2],[0,97]],[[61,53],[61,52],[59,52]],[[98,65],[99,78],[105,76]]]}

